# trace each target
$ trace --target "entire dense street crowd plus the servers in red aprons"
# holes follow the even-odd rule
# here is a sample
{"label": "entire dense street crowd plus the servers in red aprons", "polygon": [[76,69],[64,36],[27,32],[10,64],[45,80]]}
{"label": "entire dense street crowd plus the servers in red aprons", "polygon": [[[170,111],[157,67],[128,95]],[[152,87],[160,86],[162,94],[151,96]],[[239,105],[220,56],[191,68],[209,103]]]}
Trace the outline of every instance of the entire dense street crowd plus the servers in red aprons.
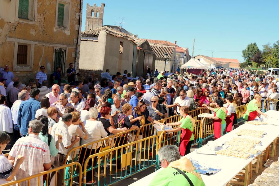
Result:
{"label": "entire dense street crowd plus the servers in red aprons", "polygon": [[[224,131],[233,130],[236,123],[234,99],[239,99],[241,104],[248,103],[246,120],[255,119],[259,114],[266,116],[261,111],[264,108],[278,109],[279,82],[247,69],[211,69],[201,75],[180,73],[179,69],[173,73],[156,69],[156,77],[150,71],[149,79],[131,78],[126,70],[122,75],[117,72],[111,76],[107,69],[101,79],[92,73],[82,81],[76,81],[80,74],[75,72],[73,64],[66,72],[68,81],[63,79],[60,67],[47,78],[45,67],[41,66],[35,81],[30,79],[26,86],[7,65],[0,69],[0,184],[61,166],[69,150],[80,144],[129,129],[138,130],[146,122],[164,125],[158,120],[175,114],[182,119],[166,125],[179,127],[167,132],[182,130],[179,152],[184,156],[190,153],[194,140],[194,119],[188,112],[197,108],[206,107],[214,112],[215,139]],[[265,99],[272,101],[267,105]],[[9,142],[12,148],[6,158],[2,151]],[[94,152],[98,153],[100,146],[93,145]],[[67,160],[77,161],[78,154],[91,155],[82,148]],[[56,181],[57,185],[63,185],[66,175],[58,171],[55,180],[54,172],[50,183]],[[94,173],[98,175],[104,176]],[[90,172],[86,177],[86,184],[92,184],[92,180],[95,183]],[[44,179],[40,178],[41,184]],[[37,182],[38,179],[31,180],[32,185]],[[20,185],[28,185],[28,182]]]}

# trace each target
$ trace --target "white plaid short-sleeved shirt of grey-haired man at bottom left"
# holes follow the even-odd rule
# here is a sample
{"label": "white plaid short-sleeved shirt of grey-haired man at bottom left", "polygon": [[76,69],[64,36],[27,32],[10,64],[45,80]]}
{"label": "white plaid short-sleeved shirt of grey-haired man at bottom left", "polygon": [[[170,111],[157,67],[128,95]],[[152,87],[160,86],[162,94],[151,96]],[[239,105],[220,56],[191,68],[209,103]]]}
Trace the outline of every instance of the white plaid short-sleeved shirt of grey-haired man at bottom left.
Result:
{"label": "white plaid short-sleeved shirt of grey-haired man at bottom left", "polygon": [[[15,180],[38,174],[44,171],[44,163],[51,162],[48,145],[35,134],[29,134],[15,142],[9,155],[17,158],[19,154],[25,158],[15,175]],[[43,176],[40,176],[39,185],[43,184]],[[20,185],[27,186],[28,181],[21,182]],[[38,185],[38,178],[31,179],[30,185]]]}

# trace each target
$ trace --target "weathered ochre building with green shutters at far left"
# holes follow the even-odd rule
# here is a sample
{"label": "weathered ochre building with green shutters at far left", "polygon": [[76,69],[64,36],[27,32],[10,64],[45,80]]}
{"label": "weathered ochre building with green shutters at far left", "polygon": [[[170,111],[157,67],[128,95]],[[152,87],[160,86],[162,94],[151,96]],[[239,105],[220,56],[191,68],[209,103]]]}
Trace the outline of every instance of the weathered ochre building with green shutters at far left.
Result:
{"label": "weathered ochre building with green shutters at far left", "polygon": [[40,66],[78,69],[82,0],[1,0],[0,65],[25,83]]}

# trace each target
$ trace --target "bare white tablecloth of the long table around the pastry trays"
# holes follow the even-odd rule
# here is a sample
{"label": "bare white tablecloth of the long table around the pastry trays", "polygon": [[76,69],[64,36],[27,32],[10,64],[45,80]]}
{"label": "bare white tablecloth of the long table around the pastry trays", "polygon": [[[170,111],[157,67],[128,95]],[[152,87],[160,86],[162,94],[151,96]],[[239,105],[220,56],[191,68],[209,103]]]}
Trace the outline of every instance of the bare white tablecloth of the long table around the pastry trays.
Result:
{"label": "bare white tablecloth of the long table around the pastry trays", "polygon": [[[272,117],[276,117],[279,119],[279,111],[267,111],[268,115],[272,114]],[[257,145],[255,148],[259,149],[261,152],[265,150],[271,143],[274,141],[277,136],[279,135],[279,126],[275,125],[252,125],[252,124],[243,124],[239,127],[237,127],[235,130],[227,133],[226,135],[223,135],[219,139],[216,139],[215,141],[219,143],[224,143],[225,141],[228,141],[229,139],[232,139],[233,137],[237,137],[237,132],[241,129],[251,129],[251,130],[259,130],[259,131],[265,131],[267,135],[265,135],[263,138],[252,138],[252,137],[244,137],[244,136],[238,136],[241,138],[252,138],[252,139],[259,139],[262,142],[262,146]],[[206,148],[206,147],[201,147]],[[191,152],[186,155],[187,158],[192,158],[194,160],[197,160],[198,162],[211,164],[214,166],[218,166],[221,168],[219,172],[217,172],[214,175],[201,175],[204,183],[206,185],[214,185],[214,186],[225,186],[235,175],[237,175],[243,168],[245,168],[251,161],[252,158],[249,159],[241,159],[241,158],[235,158],[235,157],[228,157],[228,156],[222,156],[222,155],[207,155],[207,154],[198,154],[196,151]],[[162,169],[162,168],[161,168]],[[150,181],[153,179],[154,176],[156,176],[157,172],[161,169],[157,170],[156,172],[153,172],[152,174],[139,179],[135,183],[131,184],[131,186],[142,186],[142,185],[148,185]]]}

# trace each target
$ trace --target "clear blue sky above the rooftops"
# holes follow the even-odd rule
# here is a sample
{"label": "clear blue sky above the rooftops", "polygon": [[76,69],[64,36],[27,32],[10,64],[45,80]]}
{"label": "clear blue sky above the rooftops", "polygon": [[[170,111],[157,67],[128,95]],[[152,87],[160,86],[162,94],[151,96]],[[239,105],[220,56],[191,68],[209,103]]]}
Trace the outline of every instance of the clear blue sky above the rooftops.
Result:
{"label": "clear blue sky above the rooftops", "polygon": [[[116,25],[139,38],[177,41],[192,55],[201,54],[243,62],[242,50],[250,42],[263,44],[279,40],[279,1],[83,1],[82,31],[86,3],[105,3],[103,25]],[[202,50],[201,50],[202,49]],[[225,51],[225,52],[222,52]]]}

